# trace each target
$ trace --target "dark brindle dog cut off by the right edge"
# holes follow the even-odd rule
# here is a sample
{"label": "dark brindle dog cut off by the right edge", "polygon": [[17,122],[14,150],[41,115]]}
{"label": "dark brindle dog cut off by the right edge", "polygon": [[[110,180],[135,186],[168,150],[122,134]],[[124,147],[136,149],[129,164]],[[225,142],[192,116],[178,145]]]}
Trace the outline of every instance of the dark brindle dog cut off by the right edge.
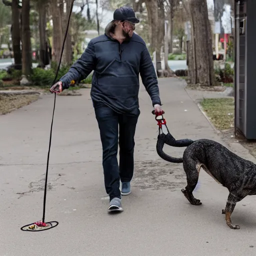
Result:
{"label": "dark brindle dog cut off by the right edge", "polygon": [[[159,135],[158,140],[164,140],[165,136],[164,134]],[[166,143],[166,141],[164,142]],[[159,144],[164,144],[164,142],[159,142]],[[173,142],[172,145],[175,146]],[[160,147],[162,149],[161,145]],[[160,152],[159,145],[157,152]],[[227,197],[226,207],[222,210],[222,214],[225,214],[226,224],[230,228],[240,228],[238,225],[231,223],[230,216],[236,202],[243,199],[246,195],[256,194],[256,165],[253,162],[239,157],[225,146],[209,139],[193,141],[184,150],[183,159],[177,159],[165,153],[163,154],[164,156],[159,155],[167,161],[183,162],[187,185],[185,189],[181,189],[181,191],[191,204],[201,204],[200,200],[196,199],[192,193],[197,184],[201,167],[218,183],[226,187],[229,190],[229,195]]]}

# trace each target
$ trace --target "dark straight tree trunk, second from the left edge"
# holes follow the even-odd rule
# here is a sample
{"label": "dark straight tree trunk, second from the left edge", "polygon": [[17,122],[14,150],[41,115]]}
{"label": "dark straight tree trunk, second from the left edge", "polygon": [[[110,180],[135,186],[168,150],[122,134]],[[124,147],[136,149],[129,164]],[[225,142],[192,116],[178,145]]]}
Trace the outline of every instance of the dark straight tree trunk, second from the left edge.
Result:
{"label": "dark straight tree trunk, second from the left edge", "polygon": [[22,74],[29,75],[31,71],[30,42],[30,0],[22,0]]}

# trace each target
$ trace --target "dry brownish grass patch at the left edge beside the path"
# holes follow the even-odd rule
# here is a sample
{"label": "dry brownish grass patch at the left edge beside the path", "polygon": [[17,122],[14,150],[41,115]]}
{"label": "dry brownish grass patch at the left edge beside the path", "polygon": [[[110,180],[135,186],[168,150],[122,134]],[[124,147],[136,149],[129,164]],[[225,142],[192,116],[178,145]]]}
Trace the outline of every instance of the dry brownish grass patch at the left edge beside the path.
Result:
{"label": "dry brownish grass patch at the left edge beside the path", "polygon": [[38,94],[0,95],[0,114],[9,113],[39,98]]}

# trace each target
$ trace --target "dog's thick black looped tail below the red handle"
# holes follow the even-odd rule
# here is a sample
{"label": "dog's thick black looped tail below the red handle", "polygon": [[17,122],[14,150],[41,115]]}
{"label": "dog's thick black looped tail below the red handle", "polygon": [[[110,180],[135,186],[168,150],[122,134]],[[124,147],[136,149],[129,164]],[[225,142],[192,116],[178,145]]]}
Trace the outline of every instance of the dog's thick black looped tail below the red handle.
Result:
{"label": "dog's thick black looped tail below the red handle", "polygon": [[157,137],[156,151],[157,151],[157,154],[163,160],[169,161],[169,162],[180,163],[180,162],[183,162],[182,157],[180,157],[180,158],[172,157],[163,152],[162,149],[163,149],[164,144],[167,144],[169,146],[175,146],[175,147],[183,147],[183,146],[189,146],[193,142],[194,142],[193,140],[188,139],[188,138],[175,140],[175,138],[169,132],[167,134],[161,133]]}

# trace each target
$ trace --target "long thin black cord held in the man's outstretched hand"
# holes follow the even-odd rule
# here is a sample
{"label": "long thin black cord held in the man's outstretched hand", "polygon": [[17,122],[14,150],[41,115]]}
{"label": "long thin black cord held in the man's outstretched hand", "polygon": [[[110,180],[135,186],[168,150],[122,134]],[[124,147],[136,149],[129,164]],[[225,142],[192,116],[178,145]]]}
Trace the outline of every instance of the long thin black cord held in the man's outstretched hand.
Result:
{"label": "long thin black cord held in the man's outstretched hand", "polygon": [[[73,9],[73,3],[74,3],[74,0],[71,0],[71,6],[70,6],[70,10],[69,10],[68,19],[67,19],[65,35],[64,35],[64,38],[63,38],[63,42],[62,42],[62,48],[61,48],[59,63],[58,63],[56,75],[55,75],[55,78],[54,78],[54,80],[52,82],[52,85],[56,82],[56,79],[57,79],[57,76],[58,76],[58,71],[59,71],[59,68],[60,68],[61,59],[62,59],[62,55],[63,55],[63,51],[64,51],[65,40],[66,40],[66,36],[67,36],[67,32],[68,32],[70,17],[71,17],[71,13],[72,13],[72,9]],[[46,204],[47,178],[48,178],[49,155],[50,155],[50,145],[51,145],[51,133],[52,133],[53,116],[54,116],[55,103],[56,103],[56,93],[54,93],[54,94],[55,95],[54,95],[53,112],[52,112],[52,119],[51,119],[51,125],[50,125],[49,149],[48,149],[46,172],[45,172],[45,185],[44,185],[44,195],[43,195],[42,222],[44,222],[44,218],[45,218],[45,204]]]}

